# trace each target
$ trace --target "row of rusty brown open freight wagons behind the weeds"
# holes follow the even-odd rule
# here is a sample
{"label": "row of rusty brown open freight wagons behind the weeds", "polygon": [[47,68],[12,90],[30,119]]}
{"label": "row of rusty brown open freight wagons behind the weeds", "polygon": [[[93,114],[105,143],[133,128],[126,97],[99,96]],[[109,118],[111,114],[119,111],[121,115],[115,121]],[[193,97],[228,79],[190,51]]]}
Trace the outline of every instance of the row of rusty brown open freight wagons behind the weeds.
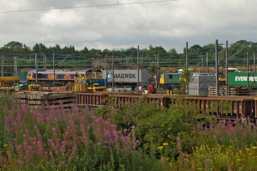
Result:
{"label": "row of rusty brown open freight wagons behind the weeds", "polygon": [[[78,92],[78,104],[105,105],[106,99],[115,99],[116,107],[123,109],[123,105],[130,102],[135,104],[144,95],[134,93],[108,93],[108,92],[93,92],[83,93]],[[190,96],[182,97],[166,94],[148,94],[146,101],[148,103],[156,101],[158,106],[169,107],[175,103],[175,98],[184,100],[184,105],[192,103],[200,109],[200,113],[208,115],[210,118],[230,119],[235,120],[245,119],[251,120],[256,118],[256,100],[254,97],[244,96]]]}

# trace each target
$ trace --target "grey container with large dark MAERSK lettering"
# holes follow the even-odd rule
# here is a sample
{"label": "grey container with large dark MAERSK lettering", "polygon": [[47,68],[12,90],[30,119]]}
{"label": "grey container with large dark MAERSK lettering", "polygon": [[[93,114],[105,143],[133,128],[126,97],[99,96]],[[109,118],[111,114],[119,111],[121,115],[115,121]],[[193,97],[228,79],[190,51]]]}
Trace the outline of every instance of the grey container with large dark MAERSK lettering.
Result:
{"label": "grey container with large dark MAERSK lettering", "polygon": [[[112,71],[108,71],[106,74],[106,70],[102,71],[102,78],[106,78],[108,76],[108,82],[112,82],[114,79],[115,83],[137,83],[137,70],[114,70],[114,76],[112,75]],[[147,70],[139,70],[139,81],[148,82],[148,71]]]}

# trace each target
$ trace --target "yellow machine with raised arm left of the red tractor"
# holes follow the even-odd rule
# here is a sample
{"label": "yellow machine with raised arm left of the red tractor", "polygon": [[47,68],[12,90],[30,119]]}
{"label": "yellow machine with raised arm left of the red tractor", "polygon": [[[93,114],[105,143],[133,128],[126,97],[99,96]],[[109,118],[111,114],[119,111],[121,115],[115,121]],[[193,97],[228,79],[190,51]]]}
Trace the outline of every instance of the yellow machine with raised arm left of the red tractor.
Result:
{"label": "yellow machine with raised arm left of the red tractor", "polygon": [[84,77],[74,77],[74,82],[79,83],[79,82],[84,82],[87,84],[87,90],[88,91],[106,91],[107,87],[99,87],[99,84],[95,82],[95,79],[93,78],[87,78],[86,80]]}

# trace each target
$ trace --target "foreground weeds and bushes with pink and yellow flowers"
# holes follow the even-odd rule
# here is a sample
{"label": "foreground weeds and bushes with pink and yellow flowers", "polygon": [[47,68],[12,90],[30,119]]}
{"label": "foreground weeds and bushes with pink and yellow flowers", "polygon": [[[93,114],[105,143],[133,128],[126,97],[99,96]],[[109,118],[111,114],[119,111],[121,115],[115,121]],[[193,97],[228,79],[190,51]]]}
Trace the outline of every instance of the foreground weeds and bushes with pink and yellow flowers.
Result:
{"label": "foreground weeds and bushes with pink and yellow flowers", "polygon": [[123,110],[112,98],[113,108],[65,109],[60,101],[31,110],[0,96],[0,170],[257,170],[256,123],[203,119],[183,98],[169,108],[144,97]]}

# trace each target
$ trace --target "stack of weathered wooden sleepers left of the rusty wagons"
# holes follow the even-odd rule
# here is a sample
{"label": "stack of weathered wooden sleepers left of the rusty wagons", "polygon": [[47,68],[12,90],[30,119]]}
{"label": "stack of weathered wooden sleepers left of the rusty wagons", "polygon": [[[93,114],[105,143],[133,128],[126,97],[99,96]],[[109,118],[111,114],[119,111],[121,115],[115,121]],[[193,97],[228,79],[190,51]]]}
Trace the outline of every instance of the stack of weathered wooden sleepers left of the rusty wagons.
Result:
{"label": "stack of weathered wooden sleepers left of the rusty wagons", "polygon": [[68,108],[76,106],[78,101],[77,93],[73,92],[23,91],[14,94],[31,109],[47,109],[53,106]]}

